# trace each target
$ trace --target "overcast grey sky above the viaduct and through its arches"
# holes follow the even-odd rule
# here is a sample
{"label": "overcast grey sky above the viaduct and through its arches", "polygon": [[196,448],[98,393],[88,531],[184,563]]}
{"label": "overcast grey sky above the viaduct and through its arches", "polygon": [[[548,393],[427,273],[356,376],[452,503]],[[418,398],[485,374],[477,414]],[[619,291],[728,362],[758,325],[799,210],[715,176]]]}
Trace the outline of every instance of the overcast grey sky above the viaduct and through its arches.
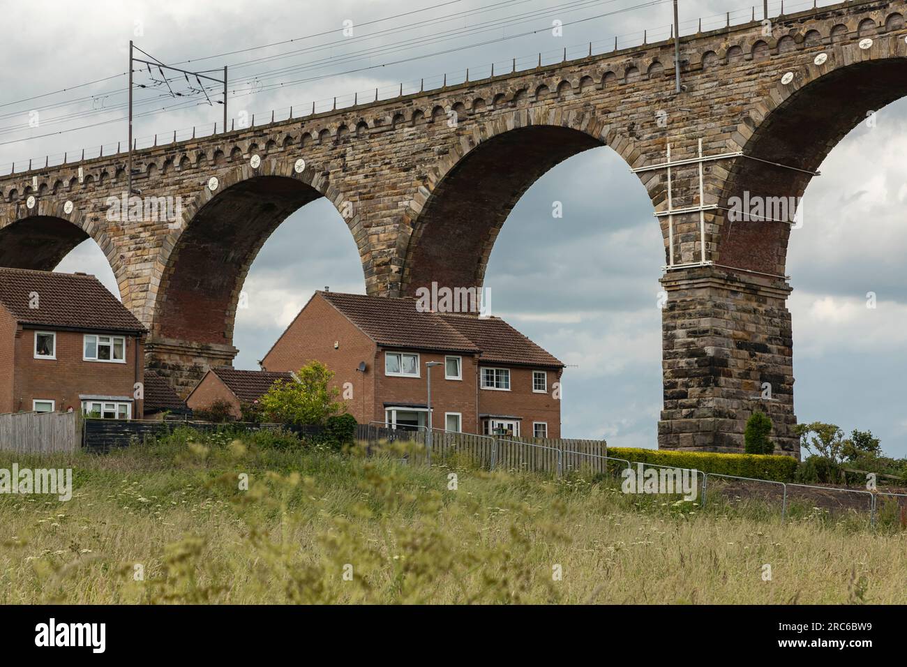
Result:
{"label": "overcast grey sky above the viaduct and through its arches", "polygon": [[[14,3],[4,9],[5,25],[17,27],[0,43],[0,62],[7,64],[0,103],[121,74],[127,69],[130,38],[162,61],[175,63],[307,37],[192,65],[229,64],[232,76],[239,79],[288,64],[312,64],[310,69],[265,82],[307,79],[280,90],[249,94],[249,84],[238,84],[230,99],[231,115],[245,110],[258,118],[269,117],[272,108],[290,104],[310,108],[313,100],[365,93],[376,86],[398,86],[445,72],[452,73],[454,81],[454,73],[462,76],[466,67],[481,73],[482,65],[509,62],[514,56],[528,56],[525,62],[530,63],[537,58],[532,54],[539,51],[556,54],[564,46],[589,41],[596,41],[596,50],[603,50],[604,44],[613,44],[615,34],[623,35],[621,45],[629,45],[639,41],[643,28],[650,35],[658,34],[659,28],[667,30],[671,10],[663,4],[565,25],[562,37],[551,35],[553,19],[569,24],[633,4],[633,0]],[[434,5],[444,6],[368,25]],[[804,5],[812,5],[811,0]],[[746,8],[735,16],[742,18],[750,11],[745,3],[681,0],[680,20],[723,17],[740,6]],[[491,11],[475,14],[479,7]],[[796,5],[787,2],[785,8],[791,11]],[[444,18],[463,12],[472,13]],[[426,19],[430,22],[420,29],[401,30]],[[490,25],[502,19],[511,24]],[[353,22],[354,36],[345,43],[240,66],[256,58],[337,42],[341,35],[327,31],[338,30],[346,20]],[[707,20],[708,25],[712,24]],[[539,34],[503,39],[546,27]],[[460,32],[448,34],[453,30]],[[388,32],[376,35],[378,31]],[[325,34],[310,36],[321,33]],[[424,41],[402,50],[407,45],[401,44],[404,40],[414,39]],[[490,40],[499,41],[434,54]],[[382,46],[393,51],[350,57]],[[375,66],[401,60],[405,62]],[[313,80],[316,76],[323,78]],[[0,173],[8,172],[10,162],[21,165],[45,153],[77,154],[86,146],[125,142],[125,123],[117,120],[122,111],[115,108],[124,100],[124,88],[121,76],[0,107]],[[147,96],[141,99],[148,100],[158,93],[143,94]],[[43,108],[89,95],[93,99]],[[170,103],[170,98],[155,99],[142,108],[147,111]],[[54,123],[60,114],[101,107],[110,111]],[[38,127],[6,130],[27,125],[29,112],[35,109],[41,118]],[[219,107],[193,106],[143,117],[136,123],[136,134],[171,135],[174,129],[213,123],[220,113]],[[104,121],[115,122],[41,136]],[[26,137],[28,141],[15,141]],[[823,175],[810,185],[803,204],[804,226],[792,233],[787,262],[795,289],[788,307],[794,320],[797,417],[834,422],[848,431],[870,428],[882,437],[883,448],[897,456],[907,456],[907,415],[902,409],[902,376],[907,368],[907,297],[902,289],[902,258],[907,250],[902,221],[907,203],[904,154],[907,103],[883,109],[874,127],[864,124],[854,129],[829,155],[821,168]],[[562,219],[551,217],[553,201],[562,202]],[[661,407],[657,293],[663,260],[649,198],[627,165],[607,147],[577,155],[548,172],[526,192],[504,224],[485,284],[493,290],[495,314],[570,365],[564,376],[564,436],[605,436],[614,446],[657,446]],[[73,250],[59,269],[92,272],[117,293],[112,272],[92,240]],[[236,366],[257,368],[257,359],[312,291],[325,285],[336,291],[365,291],[356,246],[346,225],[327,201],[320,200],[290,216],[252,265],[244,288],[249,309],[240,310],[237,319]],[[865,307],[869,291],[877,294],[876,309]]]}

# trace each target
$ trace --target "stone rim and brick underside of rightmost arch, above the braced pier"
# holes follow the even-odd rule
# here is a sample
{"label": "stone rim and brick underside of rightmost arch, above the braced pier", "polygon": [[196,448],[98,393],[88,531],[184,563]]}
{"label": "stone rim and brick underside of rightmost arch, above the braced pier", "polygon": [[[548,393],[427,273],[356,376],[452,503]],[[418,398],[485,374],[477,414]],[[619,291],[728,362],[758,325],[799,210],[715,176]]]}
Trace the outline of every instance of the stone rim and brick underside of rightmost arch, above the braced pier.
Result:
{"label": "stone rim and brick underside of rightmost arch, above the braced pier", "polygon": [[[729,165],[720,207],[728,207],[732,197],[742,199],[746,192],[750,197],[799,201],[813,172],[867,113],[907,96],[903,34],[877,38],[865,50],[851,43],[825,53],[824,64],[816,65],[811,58],[792,71],[790,83],[776,83],[745,123],[738,125],[736,136],[744,141],[734,142],[732,148],[748,157]],[[785,274],[788,222],[730,223],[727,211],[718,218],[713,259],[738,269]]]}

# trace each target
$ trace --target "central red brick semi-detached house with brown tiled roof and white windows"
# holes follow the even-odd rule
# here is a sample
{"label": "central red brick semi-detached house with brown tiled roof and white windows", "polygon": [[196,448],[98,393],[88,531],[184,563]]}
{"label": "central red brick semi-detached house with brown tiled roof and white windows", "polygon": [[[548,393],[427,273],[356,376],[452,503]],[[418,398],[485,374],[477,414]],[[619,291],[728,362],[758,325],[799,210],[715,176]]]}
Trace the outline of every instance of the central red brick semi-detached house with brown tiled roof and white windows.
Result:
{"label": "central red brick semi-detached house with brown tiled roof and white windows", "polygon": [[435,428],[561,436],[563,364],[500,318],[317,291],[260,364],[295,371],[314,359],[334,371],[360,423],[427,426],[431,372]]}

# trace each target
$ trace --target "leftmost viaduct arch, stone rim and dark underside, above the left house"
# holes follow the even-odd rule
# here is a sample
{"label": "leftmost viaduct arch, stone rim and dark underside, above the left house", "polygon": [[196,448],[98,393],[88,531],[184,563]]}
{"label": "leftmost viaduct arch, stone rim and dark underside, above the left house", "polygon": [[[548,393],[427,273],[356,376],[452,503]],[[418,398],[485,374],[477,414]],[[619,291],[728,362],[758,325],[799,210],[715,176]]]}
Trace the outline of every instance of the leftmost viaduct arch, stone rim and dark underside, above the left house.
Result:
{"label": "leftmost viaduct arch, stone rim and dark underside, above the left house", "polygon": [[18,207],[18,216],[0,220],[0,266],[12,269],[51,271],[76,246],[92,239],[107,258],[122,294],[128,281],[127,267],[112,240],[83,215],[78,201],[73,212],[63,211],[65,198],[38,199],[34,210]]}

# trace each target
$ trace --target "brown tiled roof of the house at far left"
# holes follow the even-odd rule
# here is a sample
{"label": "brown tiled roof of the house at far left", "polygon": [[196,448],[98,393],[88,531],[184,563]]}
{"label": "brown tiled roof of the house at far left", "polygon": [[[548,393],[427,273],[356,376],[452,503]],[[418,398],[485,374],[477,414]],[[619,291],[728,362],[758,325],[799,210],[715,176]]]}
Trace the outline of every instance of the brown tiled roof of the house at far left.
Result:
{"label": "brown tiled roof of the house at far left", "polygon": [[[33,300],[33,294],[36,299]],[[0,269],[0,303],[20,324],[143,333],[145,328],[94,276]],[[30,308],[37,304],[37,308]]]}

